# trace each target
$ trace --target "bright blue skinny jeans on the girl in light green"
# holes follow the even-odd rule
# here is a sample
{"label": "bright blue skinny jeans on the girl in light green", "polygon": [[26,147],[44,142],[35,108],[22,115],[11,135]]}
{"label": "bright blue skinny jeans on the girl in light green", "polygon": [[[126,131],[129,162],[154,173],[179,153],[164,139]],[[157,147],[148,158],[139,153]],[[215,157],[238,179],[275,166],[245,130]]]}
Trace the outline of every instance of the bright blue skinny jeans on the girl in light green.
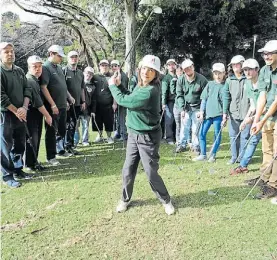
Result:
{"label": "bright blue skinny jeans on the girl in light green", "polygon": [[[214,125],[214,147],[212,150],[212,154],[216,154],[220,142],[221,142],[221,122],[222,122],[222,116],[217,116],[217,117],[212,117],[212,118],[208,118],[206,120],[204,120],[201,130],[200,130],[200,134],[199,134],[199,141],[200,141],[200,153],[201,155],[206,155],[207,153],[207,133],[211,127],[211,125]],[[220,132],[220,134],[219,134]],[[218,137],[218,138],[217,138]],[[217,139],[216,139],[217,138]]]}

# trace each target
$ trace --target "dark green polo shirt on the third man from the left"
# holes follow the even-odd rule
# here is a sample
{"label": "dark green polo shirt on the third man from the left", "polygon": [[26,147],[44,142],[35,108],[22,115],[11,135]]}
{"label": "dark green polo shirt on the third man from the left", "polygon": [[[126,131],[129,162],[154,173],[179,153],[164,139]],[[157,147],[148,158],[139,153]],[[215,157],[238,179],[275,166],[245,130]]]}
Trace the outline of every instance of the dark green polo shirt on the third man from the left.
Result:
{"label": "dark green polo shirt on the third man from the left", "polygon": [[60,65],[55,65],[49,60],[43,64],[41,85],[47,85],[57,108],[66,108],[67,85]]}

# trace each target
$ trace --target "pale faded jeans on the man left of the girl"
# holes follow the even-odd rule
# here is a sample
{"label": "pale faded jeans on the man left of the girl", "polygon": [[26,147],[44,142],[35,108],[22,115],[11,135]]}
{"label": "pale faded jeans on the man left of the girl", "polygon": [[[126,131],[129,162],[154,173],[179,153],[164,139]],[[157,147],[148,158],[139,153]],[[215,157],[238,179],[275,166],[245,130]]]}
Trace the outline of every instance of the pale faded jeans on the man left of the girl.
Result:
{"label": "pale faded jeans on the man left of the girl", "polygon": [[186,147],[191,140],[193,149],[199,149],[199,139],[196,134],[196,129],[199,124],[199,120],[196,117],[198,112],[199,110],[186,112],[185,118],[183,119],[184,135],[183,138],[180,139],[180,145],[183,147]]}

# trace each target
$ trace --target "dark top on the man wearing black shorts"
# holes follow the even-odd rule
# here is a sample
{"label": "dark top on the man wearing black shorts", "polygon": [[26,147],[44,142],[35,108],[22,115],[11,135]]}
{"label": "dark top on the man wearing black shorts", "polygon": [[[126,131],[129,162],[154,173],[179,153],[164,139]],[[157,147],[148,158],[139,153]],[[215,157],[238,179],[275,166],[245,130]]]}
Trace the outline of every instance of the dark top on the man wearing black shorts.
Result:
{"label": "dark top on the man wearing black shorts", "polygon": [[113,96],[109,89],[108,80],[111,77],[111,74],[107,75],[96,74],[94,75],[94,84],[96,86],[96,100],[97,104],[103,106],[112,106]]}

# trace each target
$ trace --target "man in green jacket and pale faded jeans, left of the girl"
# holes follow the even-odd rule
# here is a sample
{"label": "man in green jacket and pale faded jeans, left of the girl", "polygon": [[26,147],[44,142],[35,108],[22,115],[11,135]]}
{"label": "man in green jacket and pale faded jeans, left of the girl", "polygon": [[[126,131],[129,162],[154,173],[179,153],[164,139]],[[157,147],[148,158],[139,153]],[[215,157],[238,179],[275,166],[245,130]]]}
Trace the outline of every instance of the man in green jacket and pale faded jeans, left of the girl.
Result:
{"label": "man in green jacket and pale faded jeans, left of the girl", "polygon": [[177,80],[176,94],[178,106],[182,109],[181,117],[184,124],[184,135],[176,152],[185,151],[190,132],[192,132],[192,150],[199,154],[199,133],[196,131],[199,124],[197,115],[200,111],[200,96],[208,80],[195,71],[194,63],[190,59],[183,61],[182,68],[184,75]]}

